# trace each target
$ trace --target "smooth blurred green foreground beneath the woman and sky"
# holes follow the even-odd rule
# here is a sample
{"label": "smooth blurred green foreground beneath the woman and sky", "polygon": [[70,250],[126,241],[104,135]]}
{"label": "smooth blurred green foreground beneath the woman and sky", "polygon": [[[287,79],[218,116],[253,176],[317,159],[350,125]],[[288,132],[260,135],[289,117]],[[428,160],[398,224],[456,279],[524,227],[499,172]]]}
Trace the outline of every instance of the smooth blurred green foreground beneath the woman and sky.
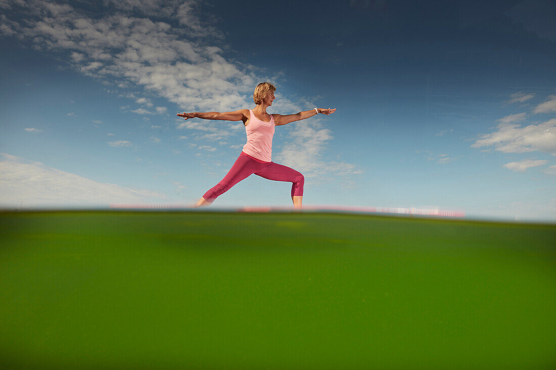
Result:
{"label": "smooth blurred green foreground beneath the woman and sky", "polygon": [[0,238],[0,368],[556,368],[554,224],[4,212]]}

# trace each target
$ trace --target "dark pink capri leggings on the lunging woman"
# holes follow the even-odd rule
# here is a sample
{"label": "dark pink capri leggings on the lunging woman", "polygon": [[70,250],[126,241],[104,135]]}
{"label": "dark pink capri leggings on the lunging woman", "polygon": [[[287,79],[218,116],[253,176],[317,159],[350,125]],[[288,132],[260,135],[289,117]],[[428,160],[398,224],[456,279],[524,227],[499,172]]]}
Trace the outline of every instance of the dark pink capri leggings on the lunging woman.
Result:
{"label": "dark pink capri leggings on the lunging woman", "polygon": [[252,173],[269,180],[292,182],[291,196],[303,195],[305,177],[301,172],[274,162],[257,162],[242,151],[226,176],[216,186],[207,191],[203,198],[207,202],[214,202],[216,197],[229,191],[232,186],[249,177]]}

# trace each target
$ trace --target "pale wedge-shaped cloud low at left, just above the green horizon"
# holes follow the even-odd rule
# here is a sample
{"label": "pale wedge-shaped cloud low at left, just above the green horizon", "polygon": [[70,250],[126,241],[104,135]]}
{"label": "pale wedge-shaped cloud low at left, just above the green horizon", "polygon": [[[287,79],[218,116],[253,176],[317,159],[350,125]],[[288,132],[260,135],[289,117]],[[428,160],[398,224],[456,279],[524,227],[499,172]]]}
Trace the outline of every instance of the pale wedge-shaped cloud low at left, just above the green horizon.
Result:
{"label": "pale wedge-shaped cloud low at left, just above the green horizon", "polygon": [[0,207],[107,206],[166,199],[147,189],[130,189],[0,153]]}

